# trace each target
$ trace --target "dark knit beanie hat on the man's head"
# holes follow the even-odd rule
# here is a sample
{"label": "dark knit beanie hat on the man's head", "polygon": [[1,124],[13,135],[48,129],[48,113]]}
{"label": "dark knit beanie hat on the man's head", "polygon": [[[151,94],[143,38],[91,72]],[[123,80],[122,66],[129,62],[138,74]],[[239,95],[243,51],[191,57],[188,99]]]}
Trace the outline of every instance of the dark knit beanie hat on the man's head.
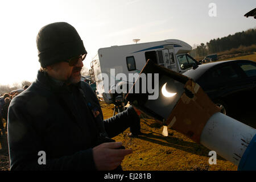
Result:
{"label": "dark knit beanie hat on the man's head", "polygon": [[36,36],[36,46],[42,68],[87,53],[76,29],[65,22],[42,27]]}

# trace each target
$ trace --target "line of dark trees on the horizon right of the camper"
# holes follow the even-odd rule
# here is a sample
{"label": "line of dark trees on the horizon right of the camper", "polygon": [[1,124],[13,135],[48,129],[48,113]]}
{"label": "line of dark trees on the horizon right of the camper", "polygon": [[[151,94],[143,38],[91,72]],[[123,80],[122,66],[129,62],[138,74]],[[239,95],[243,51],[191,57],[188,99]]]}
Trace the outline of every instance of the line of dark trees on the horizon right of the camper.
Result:
{"label": "line of dark trees on the horizon right of the camper", "polygon": [[[206,44],[201,43],[198,46],[193,46],[191,54],[195,57],[203,57],[239,47],[250,47],[254,44],[256,44],[256,28],[251,28],[246,31],[237,32],[234,35],[210,40]],[[251,49],[249,48],[248,51],[256,51]]]}

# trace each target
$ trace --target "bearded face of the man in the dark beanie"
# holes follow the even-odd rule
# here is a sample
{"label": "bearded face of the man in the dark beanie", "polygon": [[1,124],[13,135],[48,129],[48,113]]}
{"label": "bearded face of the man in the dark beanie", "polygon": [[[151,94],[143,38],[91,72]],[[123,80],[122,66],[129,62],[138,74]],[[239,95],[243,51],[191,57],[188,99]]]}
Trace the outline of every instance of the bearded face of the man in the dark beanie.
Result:
{"label": "bearded face of the man in the dark beanie", "polygon": [[81,80],[81,69],[84,66],[82,59],[79,58],[77,64],[69,66],[67,62],[56,63],[48,69],[49,76],[66,82],[67,84],[76,84]]}

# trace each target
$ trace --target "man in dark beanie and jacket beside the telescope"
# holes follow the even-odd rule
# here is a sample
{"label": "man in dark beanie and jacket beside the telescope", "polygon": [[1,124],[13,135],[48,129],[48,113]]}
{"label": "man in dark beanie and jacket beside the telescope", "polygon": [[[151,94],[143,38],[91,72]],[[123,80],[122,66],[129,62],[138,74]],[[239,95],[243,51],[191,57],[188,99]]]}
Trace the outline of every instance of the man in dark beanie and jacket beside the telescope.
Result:
{"label": "man in dark beanie and jacket beside the telescope", "polygon": [[120,142],[104,143],[104,139],[128,127],[138,134],[136,111],[129,107],[103,120],[96,95],[80,81],[87,52],[70,24],[44,26],[36,44],[42,69],[36,81],[9,107],[10,169],[116,169],[132,151],[119,149]]}

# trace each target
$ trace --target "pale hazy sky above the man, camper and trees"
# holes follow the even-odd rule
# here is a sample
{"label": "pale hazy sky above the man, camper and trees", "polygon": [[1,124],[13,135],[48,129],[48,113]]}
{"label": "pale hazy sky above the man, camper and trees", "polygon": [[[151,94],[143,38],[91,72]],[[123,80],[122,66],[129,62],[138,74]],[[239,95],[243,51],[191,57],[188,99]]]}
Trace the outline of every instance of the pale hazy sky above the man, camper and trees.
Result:
{"label": "pale hazy sky above the man, camper and trees", "polygon": [[255,28],[256,20],[243,16],[255,7],[255,0],[1,0],[0,85],[35,80],[36,35],[49,23],[76,28],[89,67],[99,48],[133,44],[133,39],[179,39],[193,47]]}

